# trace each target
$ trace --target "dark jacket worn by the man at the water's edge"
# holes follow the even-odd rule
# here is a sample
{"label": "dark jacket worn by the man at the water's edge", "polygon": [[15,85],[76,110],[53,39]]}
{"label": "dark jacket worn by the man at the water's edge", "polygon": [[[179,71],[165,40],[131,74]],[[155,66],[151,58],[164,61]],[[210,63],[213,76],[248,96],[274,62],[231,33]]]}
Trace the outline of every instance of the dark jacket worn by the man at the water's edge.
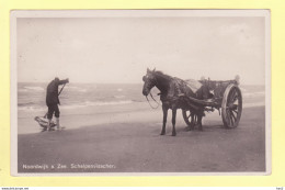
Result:
{"label": "dark jacket worn by the man at the water's edge", "polygon": [[59,80],[55,79],[50,81],[46,88],[46,105],[54,105],[54,104],[60,104],[58,99],[58,86],[67,83],[68,79],[66,80]]}

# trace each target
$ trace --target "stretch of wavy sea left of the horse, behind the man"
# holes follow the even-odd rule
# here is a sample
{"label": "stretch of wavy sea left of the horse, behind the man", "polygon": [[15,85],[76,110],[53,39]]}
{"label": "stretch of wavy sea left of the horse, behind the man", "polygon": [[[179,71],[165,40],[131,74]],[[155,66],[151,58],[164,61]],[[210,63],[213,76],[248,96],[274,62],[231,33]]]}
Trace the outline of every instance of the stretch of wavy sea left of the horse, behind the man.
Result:
{"label": "stretch of wavy sea left of the horse, behind the man", "polygon": [[[18,110],[38,112],[46,110],[47,83],[18,83]],[[142,85],[67,83],[60,96],[60,109],[111,107],[145,101]],[[59,91],[62,86],[59,86]]]}

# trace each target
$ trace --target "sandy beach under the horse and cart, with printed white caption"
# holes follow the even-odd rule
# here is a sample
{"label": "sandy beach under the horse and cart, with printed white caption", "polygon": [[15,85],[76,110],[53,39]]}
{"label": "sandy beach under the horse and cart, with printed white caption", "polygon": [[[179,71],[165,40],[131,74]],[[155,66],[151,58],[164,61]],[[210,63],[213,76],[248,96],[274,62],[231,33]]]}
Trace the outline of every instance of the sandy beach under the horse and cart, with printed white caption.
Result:
{"label": "sandy beach under the horse and cart, with printed white caption", "polygon": [[209,113],[203,132],[185,131],[179,111],[175,137],[171,113],[161,136],[161,108],[151,110],[145,102],[135,112],[128,107],[118,107],[119,113],[101,109],[101,116],[62,114],[61,123],[68,126],[62,131],[19,133],[19,172],[265,171],[264,107],[244,108],[233,130],[224,128],[218,112]]}

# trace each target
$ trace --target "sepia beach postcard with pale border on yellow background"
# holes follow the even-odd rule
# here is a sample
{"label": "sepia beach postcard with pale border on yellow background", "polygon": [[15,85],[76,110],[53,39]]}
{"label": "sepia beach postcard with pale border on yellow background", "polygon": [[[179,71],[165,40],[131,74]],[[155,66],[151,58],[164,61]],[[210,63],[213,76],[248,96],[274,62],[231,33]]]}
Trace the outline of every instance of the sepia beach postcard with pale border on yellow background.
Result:
{"label": "sepia beach postcard with pale border on yellow background", "polygon": [[269,175],[267,10],[11,12],[11,168]]}

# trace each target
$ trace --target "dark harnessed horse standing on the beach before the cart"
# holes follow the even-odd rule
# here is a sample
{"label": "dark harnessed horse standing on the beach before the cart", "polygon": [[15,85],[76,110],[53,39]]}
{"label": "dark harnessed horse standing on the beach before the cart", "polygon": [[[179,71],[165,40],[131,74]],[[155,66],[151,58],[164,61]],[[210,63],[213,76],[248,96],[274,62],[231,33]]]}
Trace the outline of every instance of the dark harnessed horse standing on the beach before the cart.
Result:
{"label": "dark harnessed horse standing on the beach before the cart", "polygon": [[202,131],[202,118],[204,116],[204,110],[197,104],[191,102],[187,97],[195,99],[207,98],[208,91],[203,88],[203,86],[196,92],[193,92],[193,90],[186,86],[184,80],[164,75],[161,71],[156,71],[156,69],[147,69],[147,75],[142,77],[142,80],[145,81],[142,88],[144,96],[147,97],[153,87],[157,87],[160,90],[159,94],[163,111],[161,135],[166,134],[166,124],[169,109],[172,110],[172,136],[176,135],[175,120],[178,109],[190,110],[192,116],[191,128],[194,127],[194,118],[196,118],[198,130]]}

